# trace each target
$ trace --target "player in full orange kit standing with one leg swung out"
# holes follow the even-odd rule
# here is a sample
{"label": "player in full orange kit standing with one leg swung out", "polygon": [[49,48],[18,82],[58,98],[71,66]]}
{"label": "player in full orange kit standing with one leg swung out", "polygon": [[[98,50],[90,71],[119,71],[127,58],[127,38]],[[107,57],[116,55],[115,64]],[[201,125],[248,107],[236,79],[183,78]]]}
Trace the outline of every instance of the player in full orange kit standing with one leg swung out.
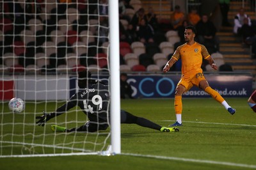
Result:
{"label": "player in full orange kit standing with one leg swung out", "polygon": [[163,72],[166,73],[170,70],[173,64],[181,59],[182,62],[182,76],[177,84],[174,99],[174,109],[176,114],[176,122],[170,126],[182,125],[182,95],[188,91],[192,86],[197,86],[203,89],[206,93],[211,95],[216,101],[220,102],[230,114],[234,114],[236,109],[230,107],[221,95],[212,89],[207,80],[204,77],[203,70],[201,68],[202,59],[206,59],[214,70],[218,67],[214,63],[207,49],[204,45],[195,42],[196,29],[193,26],[187,26],[184,32],[185,42],[175,50],[172,58],[166,63],[163,68]]}

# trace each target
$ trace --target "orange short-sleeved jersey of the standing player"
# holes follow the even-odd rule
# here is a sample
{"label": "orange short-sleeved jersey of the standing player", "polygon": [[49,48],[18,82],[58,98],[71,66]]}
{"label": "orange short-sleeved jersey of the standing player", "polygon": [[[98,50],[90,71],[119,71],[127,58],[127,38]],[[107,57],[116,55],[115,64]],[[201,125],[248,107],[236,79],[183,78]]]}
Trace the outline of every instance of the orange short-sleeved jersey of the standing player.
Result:
{"label": "orange short-sleeved jersey of the standing player", "polygon": [[210,54],[204,45],[200,43],[194,43],[188,45],[184,43],[175,50],[172,58],[176,60],[181,59],[182,62],[182,74],[192,75],[198,72],[203,72],[201,65],[202,60],[209,58]]}

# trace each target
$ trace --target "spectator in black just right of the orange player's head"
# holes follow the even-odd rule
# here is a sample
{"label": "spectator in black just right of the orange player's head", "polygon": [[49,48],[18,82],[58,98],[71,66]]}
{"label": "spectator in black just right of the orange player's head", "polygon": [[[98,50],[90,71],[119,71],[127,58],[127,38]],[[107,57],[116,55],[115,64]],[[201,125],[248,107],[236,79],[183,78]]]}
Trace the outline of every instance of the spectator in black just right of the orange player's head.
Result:
{"label": "spectator in black just right of the orange player's head", "polygon": [[198,42],[207,47],[210,54],[219,50],[219,40],[216,36],[216,27],[208,19],[207,15],[202,15],[202,19],[196,24]]}

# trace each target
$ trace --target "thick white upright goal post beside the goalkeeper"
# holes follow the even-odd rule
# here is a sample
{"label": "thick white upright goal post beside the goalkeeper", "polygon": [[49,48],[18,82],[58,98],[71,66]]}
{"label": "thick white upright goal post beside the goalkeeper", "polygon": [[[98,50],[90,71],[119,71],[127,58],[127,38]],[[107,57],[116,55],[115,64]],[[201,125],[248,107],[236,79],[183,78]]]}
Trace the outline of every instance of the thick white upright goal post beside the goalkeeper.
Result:
{"label": "thick white upright goal post beside the goalkeeper", "polygon": [[121,153],[120,134],[120,61],[119,61],[119,22],[118,0],[109,1],[109,30],[110,30],[110,73],[111,73],[111,144],[113,153]]}

